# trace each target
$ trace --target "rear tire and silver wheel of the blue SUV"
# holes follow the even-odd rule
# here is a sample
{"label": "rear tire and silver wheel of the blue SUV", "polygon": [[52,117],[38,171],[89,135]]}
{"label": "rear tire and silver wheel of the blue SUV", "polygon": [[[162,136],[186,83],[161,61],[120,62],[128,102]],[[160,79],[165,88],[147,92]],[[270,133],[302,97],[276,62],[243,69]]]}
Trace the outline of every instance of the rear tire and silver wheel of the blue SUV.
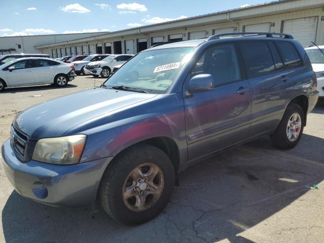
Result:
{"label": "rear tire and silver wheel of the blue SUV", "polygon": [[270,135],[272,143],[280,149],[294,148],[303,134],[304,124],[305,113],[302,107],[298,104],[290,104],[282,116],[279,126]]}

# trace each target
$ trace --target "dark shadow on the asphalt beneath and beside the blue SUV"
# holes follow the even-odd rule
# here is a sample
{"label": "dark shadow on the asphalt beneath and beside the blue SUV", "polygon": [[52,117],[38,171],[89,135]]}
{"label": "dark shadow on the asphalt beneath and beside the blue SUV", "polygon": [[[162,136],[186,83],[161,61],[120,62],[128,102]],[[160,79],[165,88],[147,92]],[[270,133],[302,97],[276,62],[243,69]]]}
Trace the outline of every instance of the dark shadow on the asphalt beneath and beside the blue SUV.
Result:
{"label": "dark shadow on the asphalt beneath and beside the blue SUV", "polygon": [[135,227],[114,222],[100,207],[54,208],[13,191],[2,212],[5,240],[254,242],[238,234],[284,209],[324,178],[324,161],[317,162],[324,157],[324,139],[303,138],[296,151],[306,150],[305,143],[311,142],[318,151],[315,158],[277,150],[262,138],[188,168],[163,213]]}

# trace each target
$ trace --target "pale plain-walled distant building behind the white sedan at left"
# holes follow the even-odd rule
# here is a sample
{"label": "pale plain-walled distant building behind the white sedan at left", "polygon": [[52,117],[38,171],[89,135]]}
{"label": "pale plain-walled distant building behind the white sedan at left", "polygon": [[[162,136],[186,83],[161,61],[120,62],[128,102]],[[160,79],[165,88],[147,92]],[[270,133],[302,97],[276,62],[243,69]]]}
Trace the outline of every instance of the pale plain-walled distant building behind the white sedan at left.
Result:
{"label": "pale plain-walled distant building behind the white sedan at left", "polygon": [[[0,37],[0,50],[16,49],[15,53],[42,53],[42,50],[36,50],[34,46],[68,41],[76,38],[98,35],[98,33],[77,33],[77,34],[49,34],[49,35],[28,35],[28,36],[7,36]],[[18,48],[20,45],[20,49]],[[3,54],[9,54],[3,53]],[[48,54],[48,53],[47,53]],[[0,53],[2,55],[2,53]]]}

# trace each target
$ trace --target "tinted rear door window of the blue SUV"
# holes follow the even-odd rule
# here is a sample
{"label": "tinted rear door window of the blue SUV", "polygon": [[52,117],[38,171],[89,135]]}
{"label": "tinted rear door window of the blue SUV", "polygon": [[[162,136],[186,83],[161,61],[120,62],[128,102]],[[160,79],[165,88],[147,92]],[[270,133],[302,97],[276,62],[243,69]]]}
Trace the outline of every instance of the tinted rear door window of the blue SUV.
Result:
{"label": "tinted rear door window of the blue SUV", "polygon": [[272,55],[266,42],[241,42],[238,45],[249,78],[275,71]]}

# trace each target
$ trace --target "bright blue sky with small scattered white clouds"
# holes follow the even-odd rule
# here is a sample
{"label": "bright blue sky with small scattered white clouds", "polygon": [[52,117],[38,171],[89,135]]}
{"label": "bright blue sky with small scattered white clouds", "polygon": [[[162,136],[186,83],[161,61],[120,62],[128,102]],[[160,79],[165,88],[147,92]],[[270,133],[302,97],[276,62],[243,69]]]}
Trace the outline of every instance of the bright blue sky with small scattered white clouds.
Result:
{"label": "bright blue sky with small scattered white clouds", "polygon": [[2,0],[0,36],[116,31],[270,1]]}

